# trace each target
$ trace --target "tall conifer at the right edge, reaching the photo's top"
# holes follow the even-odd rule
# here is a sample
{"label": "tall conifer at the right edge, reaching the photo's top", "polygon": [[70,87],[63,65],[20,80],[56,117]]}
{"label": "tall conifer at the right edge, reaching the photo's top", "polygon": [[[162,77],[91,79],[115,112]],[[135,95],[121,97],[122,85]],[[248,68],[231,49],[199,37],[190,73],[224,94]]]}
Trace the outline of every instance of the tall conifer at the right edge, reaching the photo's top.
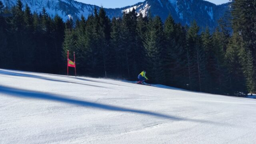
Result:
{"label": "tall conifer at the right edge, reaching the photo's top", "polygon": [[[253,0],[236,0],[231,5],[233,43],[237,44],[240,52],[240,66],[246,81],[247,91],[250,92],[255,87],[255,83],[252,82],[255,79],[253,78],[255,76],[253,67],[256,66],[255,4]],[[242,74],[240,75],[242,77]]]}

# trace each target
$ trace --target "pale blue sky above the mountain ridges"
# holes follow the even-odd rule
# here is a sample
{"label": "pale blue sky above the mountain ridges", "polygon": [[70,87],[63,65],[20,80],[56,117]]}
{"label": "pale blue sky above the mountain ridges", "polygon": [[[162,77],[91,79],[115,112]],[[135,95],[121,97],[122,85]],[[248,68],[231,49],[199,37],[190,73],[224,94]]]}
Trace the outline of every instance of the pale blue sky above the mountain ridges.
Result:
{"label": "pale blue sky above the mountain ridges", "polygon": [[[97,6],[103,6],[104,8],[121,8],[124,6],[130,6],[137,2],[143,2],[144,0],[76,0],[86,4],[94,4]],[[206,0],[214,4],[223,4],[229,0]]]}

